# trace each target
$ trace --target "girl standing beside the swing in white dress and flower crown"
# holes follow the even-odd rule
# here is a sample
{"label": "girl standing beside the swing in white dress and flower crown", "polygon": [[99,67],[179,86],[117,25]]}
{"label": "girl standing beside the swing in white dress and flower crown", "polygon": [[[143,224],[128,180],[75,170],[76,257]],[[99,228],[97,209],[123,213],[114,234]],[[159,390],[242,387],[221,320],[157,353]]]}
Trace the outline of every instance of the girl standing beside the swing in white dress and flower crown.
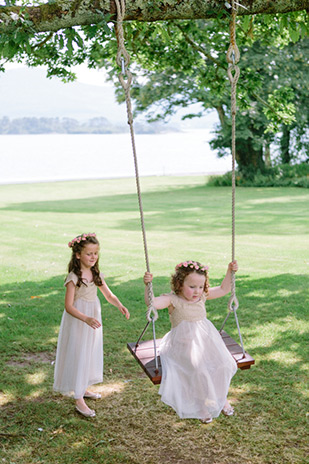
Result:
{"label": "girl standing beside the swing in white dress and flower crown", "polygon": [[97,287],[106,300],[127,319],[130,313],[108,288],[99,271],[99,241],[96,234],[82,234],[69,242],[72,248],[65,280],[65,311],[58,337],[54,390],[75,398],[76,410],[94,417],[84,398],[99,399],[89,385],[103,381],[103,335]]}

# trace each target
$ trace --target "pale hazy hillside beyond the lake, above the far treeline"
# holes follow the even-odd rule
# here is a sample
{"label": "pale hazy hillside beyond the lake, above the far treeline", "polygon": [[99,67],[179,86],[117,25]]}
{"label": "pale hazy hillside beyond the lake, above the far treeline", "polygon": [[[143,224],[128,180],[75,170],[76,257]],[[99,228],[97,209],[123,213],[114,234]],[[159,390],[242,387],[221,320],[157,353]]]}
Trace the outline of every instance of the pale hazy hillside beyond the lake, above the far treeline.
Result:
{"label": "pale hazy hillside beyond the lake, above the far treeline", "polygon": [[[199,112],[199,105],[181,110],[171,118],[166,129],[211,128],[217,122],[215,112],[192,120],[181,121],[187,112]],[[0,73],[0,118],[2,117],[73,118],[87,121],[106,118],[113,125],[127,126],[125,104],[116,102],[111,85],[97,86],[80,82],[64,84],[60,79],[46,78],[40,68],[16,68]],[[143,122],[140,116],[137,121]]]}

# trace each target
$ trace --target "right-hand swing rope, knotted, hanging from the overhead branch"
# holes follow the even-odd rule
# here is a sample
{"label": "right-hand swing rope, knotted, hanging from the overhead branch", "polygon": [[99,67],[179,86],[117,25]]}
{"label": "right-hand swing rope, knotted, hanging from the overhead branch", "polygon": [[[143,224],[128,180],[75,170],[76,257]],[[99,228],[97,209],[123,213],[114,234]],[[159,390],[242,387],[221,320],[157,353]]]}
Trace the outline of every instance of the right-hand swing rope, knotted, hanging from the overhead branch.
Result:
{"label": "right-hand swing rope, knotted, hanging from the overhead branch", "polygon": [[[236,4],[236,6],[235,6]],[[236,16],[238,11],[238,3],[232,0],[232,12],[230,20],[230,46],[226,54],[226,60],[228,62],[227,74],[231,84],[231,113],[232,113],[232,261],[235,260],[235,192],[236,192],[236,183],[235,183],[235,159],[236,159],[236,91],[237,91],[237,82],[240,75],[239,67],[237,63],[240,59],[239,49],[236,43]],[[243,356],[245,357],[245,349],[243,345],[242,336],[240,333],[240,327],[237,317],[237,309],[239,307],[238,299],[236,296],[236,283],[235,283],[235,271],[232,271],[232,281],[231,281],[231,297],[228,302],[228,314],[221,326],[220,333],[225,326],[226,321],[228,320],[230,314],[233,312],[235,316],[235,321],[238,329],[238,335],[241,343],[241,349]]]}

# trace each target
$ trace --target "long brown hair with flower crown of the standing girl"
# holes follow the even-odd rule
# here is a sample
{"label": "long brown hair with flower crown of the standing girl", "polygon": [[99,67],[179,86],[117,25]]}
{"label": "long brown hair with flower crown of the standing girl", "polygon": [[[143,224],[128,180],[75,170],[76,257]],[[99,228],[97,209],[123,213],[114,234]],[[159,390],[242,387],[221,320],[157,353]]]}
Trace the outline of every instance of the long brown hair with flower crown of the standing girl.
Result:
{"label": "long brown hair with flower crown of the standing girl", "polygon": [[[80,238],[80,240],[79,240]],[[77,239],[77,240],[76,240]],[[74,272],[77,275],[78,281],[76,286],[80,287],[82,284],[86,285],[82,280],[82,271],[80,268],[80,259],[76,257],[76,254],[80,254],[82,249],[89,244],[94,244],[100,246],[99,240],[96,238],[95,234],[82,234],[78,235],[76,239],[73,239],[69,243],[69,247],[72,248],[72,256],[68,265],[68,272]],[[103,285],[102,279],[100,277],[99,270],[99,258],[94,266],[91,268],[92,278],[95,285],[100,287]]]}

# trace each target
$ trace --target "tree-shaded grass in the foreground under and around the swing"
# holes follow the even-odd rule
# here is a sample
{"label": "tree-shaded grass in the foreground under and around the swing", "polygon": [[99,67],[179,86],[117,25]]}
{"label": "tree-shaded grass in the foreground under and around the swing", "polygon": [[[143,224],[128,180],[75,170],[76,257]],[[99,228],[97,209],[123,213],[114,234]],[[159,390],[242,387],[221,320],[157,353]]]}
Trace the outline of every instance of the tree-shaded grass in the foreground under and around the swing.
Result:
{"label": "tree-shaded grass in the foreground under and around the swing", "polygon": [[[238,371],[232,380],[236,416],[232,420],[219,418],[207,430],[201,430],[198,421],[180,421],[172,409],[163,405],[158,387],[151,384],[126,349],[126,342],[135,341],[145,325],[143,288],[140,280],[119,284],[116,279],[110,278],[109,285],[130,308],[132,317],[126,321],[102,300],[104,385],[116,383],[121,388],[96,404],[95,422],[77,416],[71,400],[51,392],[51,362],[63,311],[63,276],[40,284],[22,282],[0,287],[5,302],[0,310],[5,329],[1,332],[4,339],[0,404],[1,399],[4,402],[0,431],[12,434],[4,436],[3,449],[11,453],[10,457],[19,456],[24,447],[23,462],[56,462],[54,450],[61,449],[63,463],[92,463],[100,459],[152,463],[152,456],[159,456],[157,462],[165,462],[162,450],[168,449],[169,462],[191,464],[184,458],[188,443],[194,443],[194,459],[202,462],[199,459],[206,456],[205,446],[211,449],[221,439],[222,462],[227,457],[230,463],[239,462],[240,443],[244,446],[244,462],[254,462],[254,456],[258,463],[302,462],[297,453],[305,430],[302,382],[305,383],[307,276],[284,274],[250,280],[238,277],[238,317],[245,346],[256,365],[248,371]],[[217,283],[219,280],[213,282]],[[168,287],[167,277],[156,278],[158,293],[168,291]],[[227,297],[207,305],[208,317],[217,327],[226,314],[226,304]],[[167,311],[160,311],[156,325],[158,336],[169,330]],[[227,331],[237,338],[234,321],[229,320]],[[284,405],[288,405],[286,410]],[[275,431],[272,424],[276,424]],[[176,446],[182,430],[187,440],[182,439]],[[268,460],[261,460],[270,434]],[[295,460],[285,458],[287,442],[292,449],[295,447]],[[218,462],[218,452],[215,456],[207,452],[207,462]]]}

